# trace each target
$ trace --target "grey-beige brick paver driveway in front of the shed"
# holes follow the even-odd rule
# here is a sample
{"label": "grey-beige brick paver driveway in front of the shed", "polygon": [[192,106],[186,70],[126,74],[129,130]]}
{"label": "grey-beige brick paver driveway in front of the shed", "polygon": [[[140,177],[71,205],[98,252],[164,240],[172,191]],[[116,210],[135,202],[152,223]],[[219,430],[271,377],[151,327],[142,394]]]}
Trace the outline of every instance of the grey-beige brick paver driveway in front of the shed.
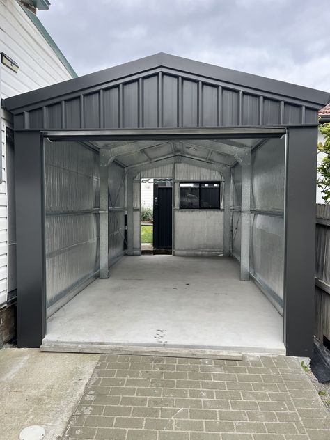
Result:
{"label": "grey-beige brick paver driveway in front of the shed", "polygon": [[102,355],[64,439],[330,440],[298,359]]}

